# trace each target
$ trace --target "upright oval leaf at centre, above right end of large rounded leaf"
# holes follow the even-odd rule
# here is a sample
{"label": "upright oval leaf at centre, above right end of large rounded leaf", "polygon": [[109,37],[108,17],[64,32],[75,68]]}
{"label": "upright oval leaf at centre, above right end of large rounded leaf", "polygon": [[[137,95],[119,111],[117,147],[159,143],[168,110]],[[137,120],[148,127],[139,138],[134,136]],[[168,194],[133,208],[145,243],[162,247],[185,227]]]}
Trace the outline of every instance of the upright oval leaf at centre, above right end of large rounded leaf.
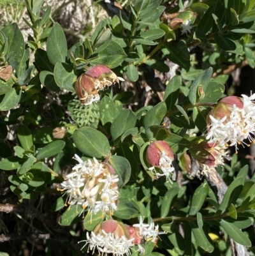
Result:
{"label": "upright oval leaf at centre, above right end of large rounded leaf", "polygon": [[119,138],[124,132],[135,127],[135,124],[136,115],[130,109],[122,110],[112,123],[110,129],[112,139]]}

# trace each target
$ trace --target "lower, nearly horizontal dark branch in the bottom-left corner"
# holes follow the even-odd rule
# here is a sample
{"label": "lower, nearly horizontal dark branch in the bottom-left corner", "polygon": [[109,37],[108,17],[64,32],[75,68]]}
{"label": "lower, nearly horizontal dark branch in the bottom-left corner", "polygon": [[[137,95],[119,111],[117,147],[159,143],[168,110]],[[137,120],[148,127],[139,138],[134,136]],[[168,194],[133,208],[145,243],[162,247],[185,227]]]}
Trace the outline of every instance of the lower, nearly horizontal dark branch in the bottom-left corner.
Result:
{"label": "lower, nearly horizontal dark branch in the bottom-left corner", "polygon": [[71,237],[71,236],[63,236],[63,235],[54,235],[54,234],[40,234],[36,232],[26,232],[26,233],[16,233],[16,234],[1,234],[0,235],[0,243],[8,242],[15,239],[24,239],[24,238],[38,238],[38,239],[52,239],[56,241],[64,241],[64,242],[71,242],[76,240],[78,242],[78,237]]}

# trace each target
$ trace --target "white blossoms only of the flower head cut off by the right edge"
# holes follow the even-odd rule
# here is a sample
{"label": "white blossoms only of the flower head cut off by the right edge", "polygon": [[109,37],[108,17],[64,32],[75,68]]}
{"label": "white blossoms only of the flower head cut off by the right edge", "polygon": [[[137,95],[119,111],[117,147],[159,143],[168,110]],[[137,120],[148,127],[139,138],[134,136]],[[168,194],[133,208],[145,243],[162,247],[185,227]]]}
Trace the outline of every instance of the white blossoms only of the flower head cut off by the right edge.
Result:
{"label": "white blossoms only of the flower head cut off by the right edge", "polygon": [[[211,120],[210,128],[206,139],[208,143],[215,143],[221,146],[235,146],[237,144],[245,144],[244,140],[254,140],[255,135],[255,94],[250,97],[242,95],[244,98],[244,107],[238,108],[235,104],[229,117],[224,116],[217,120],[213,116],[209,116]],[[253,136],[252,136],[253,135]]]}

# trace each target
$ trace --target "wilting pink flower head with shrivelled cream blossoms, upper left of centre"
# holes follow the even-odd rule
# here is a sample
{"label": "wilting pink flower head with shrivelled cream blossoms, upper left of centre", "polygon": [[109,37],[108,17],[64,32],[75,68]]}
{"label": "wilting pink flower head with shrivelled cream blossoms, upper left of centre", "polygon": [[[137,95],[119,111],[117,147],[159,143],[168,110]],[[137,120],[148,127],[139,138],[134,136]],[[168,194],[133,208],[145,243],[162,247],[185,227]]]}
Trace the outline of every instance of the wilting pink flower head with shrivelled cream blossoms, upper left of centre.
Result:
{"label": "wilting pink flower head with shrivelled cream blossoms, upper left of centre", "polygon": [[111,86],[116,82],[124,81],[105,65],[92,66],[78,77],[75,91],[81,103],[91,105],[100,100],[99,91]]}

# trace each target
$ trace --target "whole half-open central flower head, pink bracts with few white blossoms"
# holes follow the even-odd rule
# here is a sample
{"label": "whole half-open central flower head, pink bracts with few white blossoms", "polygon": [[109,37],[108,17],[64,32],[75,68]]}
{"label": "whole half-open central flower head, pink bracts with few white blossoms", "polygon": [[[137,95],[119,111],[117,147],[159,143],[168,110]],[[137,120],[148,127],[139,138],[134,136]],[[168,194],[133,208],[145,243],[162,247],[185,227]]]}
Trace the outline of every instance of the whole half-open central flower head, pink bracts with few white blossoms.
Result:
{"label": "whole half-open central flower head, pink bracts with few white blossoms", "polygon": [[[152,165],[149,170],[154,170],[156,176],[166,176],[168,181],[169,175],[175,170],[173,167],[173,151],[171,147],[163,140],[152,142],[146,153],[147,161]],[[157,172],[155,167],[162,172]]]}

